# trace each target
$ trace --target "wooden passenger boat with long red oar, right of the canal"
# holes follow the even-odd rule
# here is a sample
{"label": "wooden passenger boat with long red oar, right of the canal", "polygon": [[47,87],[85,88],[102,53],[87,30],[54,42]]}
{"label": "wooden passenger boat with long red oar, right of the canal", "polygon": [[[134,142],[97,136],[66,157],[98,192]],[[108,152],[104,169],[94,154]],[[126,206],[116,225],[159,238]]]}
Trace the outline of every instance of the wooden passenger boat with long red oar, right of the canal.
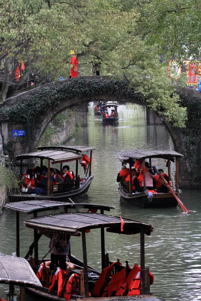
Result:
{"label": "wooden passenger boat with long red oar, right of the canal", "polygon": [[172,193],[153,193],[153,196],[150,197],[146,189],[145,183],[145,160],[149,159],[149,166],[151,167],[151,159],[152,158],[163,158],[167,161],[168,167],[168,178],[169,181],[173,184],[173,178],[171,175],[171,162],[175,162],[176,164],[176,182],[173,184],[173,191],[179,198],[181,194],[181,190],[179,189],[179,170],[178,170],[178,158],[182,158],[183,155],[177,153],[173,150],[127,150],[121,151],[117,153],[117,158],[123,164],[129,164],[130,170],[130,178],[132,162],[135,160],[141,161],[141,166],[143,167],[143,180],[144,187],[143,192],[133,193],[132,189],[132,180],[129,182],[125,182],[124,179],[121,179],[119,182],[118,191],[123,199],[130,201],[133,205],[143,207],[143,208],[168,208],[168,207],[177,207],[178,203],[176,198]]}

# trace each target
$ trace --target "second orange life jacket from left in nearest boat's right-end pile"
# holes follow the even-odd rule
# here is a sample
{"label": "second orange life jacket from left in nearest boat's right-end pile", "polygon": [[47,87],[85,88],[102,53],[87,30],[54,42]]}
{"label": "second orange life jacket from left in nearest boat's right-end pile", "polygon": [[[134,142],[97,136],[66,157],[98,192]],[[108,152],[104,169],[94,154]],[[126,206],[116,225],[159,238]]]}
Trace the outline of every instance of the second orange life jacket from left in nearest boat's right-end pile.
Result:
{"label": "second orange life jacket from left in nearest boat's right-end pile", "polygon": [[111,295],[114,295],[114,293],[116,293],[125,282],[126,282],[126,268],[112,275],[111,281],[108,284],[108,286],[105,288],[102,297],[106,297],[106,296],[110,297]]}

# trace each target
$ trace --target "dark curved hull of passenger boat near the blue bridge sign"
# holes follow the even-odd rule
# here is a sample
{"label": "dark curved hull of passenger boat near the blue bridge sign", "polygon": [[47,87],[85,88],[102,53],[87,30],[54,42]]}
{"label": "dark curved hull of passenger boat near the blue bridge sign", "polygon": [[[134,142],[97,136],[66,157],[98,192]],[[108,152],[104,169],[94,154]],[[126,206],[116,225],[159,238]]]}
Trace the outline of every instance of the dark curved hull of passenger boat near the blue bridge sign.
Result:
{"label": "dark curved hull of passenger boat near the blue bridge sign", "polygon": [[54,193],[51,195],[38,195],[38,196],[33,196],[33,195],[28,195],[28,194],[25,194],[25,195],[14,194],[14,195],[10,195],[9,199],[10,199],[10,202],[27,201],[27,200],[49,200],[49,201],[52,200],[52,201],[65,202],[66,200],[68,201],[68,198],[78,197],[78,196],[81,196],[81,195],[84,195],[85,193],[87,193],[93,178],[94,178],[94,175],[91,175],[90,177],[88,177],[86,179],[86,181],[83,183],[82,186],[80,186],[77,189],[72,189],[67,192]]}

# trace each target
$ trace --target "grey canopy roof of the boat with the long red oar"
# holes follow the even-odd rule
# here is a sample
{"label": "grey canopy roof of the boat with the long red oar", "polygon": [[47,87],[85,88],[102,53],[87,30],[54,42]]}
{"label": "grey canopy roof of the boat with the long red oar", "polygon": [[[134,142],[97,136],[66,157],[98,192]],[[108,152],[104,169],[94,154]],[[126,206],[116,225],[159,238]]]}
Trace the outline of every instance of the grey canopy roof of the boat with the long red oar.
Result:
{"label": "grey canopy roof of the boat with the long red oar", "polygon": [[146,159],[146,158],[170,158],[174,161],[174,158],[182,158],[183,155],[177,153],[174,150],[123,150],[117,153],[117,157],[120,161],[127,161],[132,159]]}

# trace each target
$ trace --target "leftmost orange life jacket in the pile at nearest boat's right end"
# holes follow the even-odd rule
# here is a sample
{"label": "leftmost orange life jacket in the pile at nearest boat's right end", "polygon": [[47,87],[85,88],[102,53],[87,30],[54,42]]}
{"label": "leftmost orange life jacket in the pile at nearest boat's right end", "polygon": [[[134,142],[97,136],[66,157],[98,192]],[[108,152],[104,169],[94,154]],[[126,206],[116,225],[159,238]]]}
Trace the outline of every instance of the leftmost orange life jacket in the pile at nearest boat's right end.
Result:
{"label": "leftmost orange life jacket in the pile at nearest boat's right end", "polygon": [[105,289],[106,285],[108,284],[108,278],[114,268],[114,265],[117,263],[116,262],[113,262],[109,267],[105,267],[101,274],[100,274],[100,277],[98,278],[98,280],[96,281],[95,283],[95,286],[94,286],[94,289],[93,289],[93,292],[92,294],[96,297],[99,297],[100,296],[100,293],[103,289]]}

